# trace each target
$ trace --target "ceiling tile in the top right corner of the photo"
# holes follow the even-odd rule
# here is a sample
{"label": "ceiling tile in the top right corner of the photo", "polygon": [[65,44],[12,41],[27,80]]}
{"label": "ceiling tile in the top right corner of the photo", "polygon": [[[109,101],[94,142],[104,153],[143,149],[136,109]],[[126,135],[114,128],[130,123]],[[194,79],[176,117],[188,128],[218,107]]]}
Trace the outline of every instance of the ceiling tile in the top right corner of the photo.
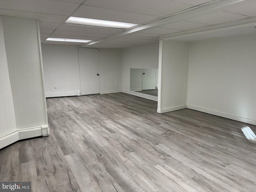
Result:
{"label": "ceiling tile in the top right corner of the photo", "polygon": [[246,1],[233,4],[231,6],[227,6],[225,10],[233,13],[256,17],[255,8],[256,8],[255,0],[246,0]]}

